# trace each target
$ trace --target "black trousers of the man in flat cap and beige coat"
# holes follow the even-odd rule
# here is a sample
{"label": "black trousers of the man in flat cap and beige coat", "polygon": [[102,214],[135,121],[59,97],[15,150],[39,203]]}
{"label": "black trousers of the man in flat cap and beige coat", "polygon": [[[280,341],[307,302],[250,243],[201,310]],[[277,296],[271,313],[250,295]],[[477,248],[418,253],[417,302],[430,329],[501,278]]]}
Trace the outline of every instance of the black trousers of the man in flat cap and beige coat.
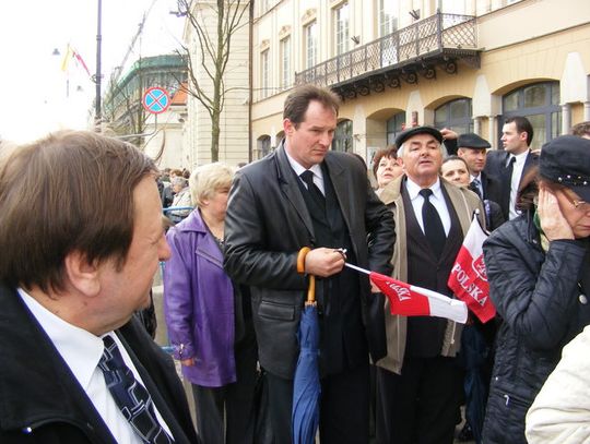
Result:
{"label": "black trousers of the man in flat cap and beige coat", "polygon": [[455,358],[405,358],[401,375],[377,368],[377,443],[452,444],[461,394]]}

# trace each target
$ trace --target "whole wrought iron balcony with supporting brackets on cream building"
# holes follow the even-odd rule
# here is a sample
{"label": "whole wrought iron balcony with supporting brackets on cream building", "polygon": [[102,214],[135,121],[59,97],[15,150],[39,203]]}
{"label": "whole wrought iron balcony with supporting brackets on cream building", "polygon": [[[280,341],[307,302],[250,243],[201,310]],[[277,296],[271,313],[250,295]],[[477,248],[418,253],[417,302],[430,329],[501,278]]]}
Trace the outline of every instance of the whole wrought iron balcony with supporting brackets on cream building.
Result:
{"label": "whole wrought iron balcony with supporting brackets on cream building", "polygon": [[462,60],[480,67],[475,17],[436,13],[352,51],[295,74],[295,84],[330,86],[353,98],[386,86],[400,87],[401,80],[417,83],[418,75],[436,79],[436,67],[453,74]]}

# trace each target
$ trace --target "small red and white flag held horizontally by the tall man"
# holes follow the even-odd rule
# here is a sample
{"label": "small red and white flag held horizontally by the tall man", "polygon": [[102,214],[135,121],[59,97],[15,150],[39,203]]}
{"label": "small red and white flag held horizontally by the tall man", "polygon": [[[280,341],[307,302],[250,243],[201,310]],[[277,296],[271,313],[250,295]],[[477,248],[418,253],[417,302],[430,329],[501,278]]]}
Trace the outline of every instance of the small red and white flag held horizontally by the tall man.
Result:
{"label": "small red and white flag held horizontally by the tall man", "polygon": [[467,322],[468,309],[463,301],[375,272],[369,273],[369,278],[389,299],[391,314],[438,316],[461,324]]}

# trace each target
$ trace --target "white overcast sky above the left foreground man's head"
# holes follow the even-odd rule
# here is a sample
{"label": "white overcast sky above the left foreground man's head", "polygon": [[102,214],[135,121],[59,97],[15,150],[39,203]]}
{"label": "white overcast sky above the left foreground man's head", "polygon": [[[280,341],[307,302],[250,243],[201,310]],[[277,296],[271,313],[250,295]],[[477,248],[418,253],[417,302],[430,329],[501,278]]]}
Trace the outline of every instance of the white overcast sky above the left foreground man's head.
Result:
{"label": "white overcast sky above the left foreground man's head", "polygon": [[[176,0],[102,2],[104,92],[152,4],[128,64],[178,48],[184,20],[169,14]],[[70,44],[95,73],[96,16],[97,0],[0,0],[1,139],[24,142],[60,128],[86,128],[95,84],[72,60],[67,72],[61,64]],[[60,56],[52,56],[55,48]]]}

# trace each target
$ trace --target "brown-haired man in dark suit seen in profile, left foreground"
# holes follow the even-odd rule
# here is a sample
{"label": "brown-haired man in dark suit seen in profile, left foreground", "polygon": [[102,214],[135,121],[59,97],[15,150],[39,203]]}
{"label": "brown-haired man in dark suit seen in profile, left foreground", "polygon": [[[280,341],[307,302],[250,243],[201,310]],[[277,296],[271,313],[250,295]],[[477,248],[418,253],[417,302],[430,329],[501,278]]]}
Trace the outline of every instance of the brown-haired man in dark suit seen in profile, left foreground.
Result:
{"label": "brown-haired man in dark suit seen in profile, left foreground", "polygon": [[133,317],[170,254],[156,172],[87,131],[0,163],[0,442],[198,442],[172,359]]}

